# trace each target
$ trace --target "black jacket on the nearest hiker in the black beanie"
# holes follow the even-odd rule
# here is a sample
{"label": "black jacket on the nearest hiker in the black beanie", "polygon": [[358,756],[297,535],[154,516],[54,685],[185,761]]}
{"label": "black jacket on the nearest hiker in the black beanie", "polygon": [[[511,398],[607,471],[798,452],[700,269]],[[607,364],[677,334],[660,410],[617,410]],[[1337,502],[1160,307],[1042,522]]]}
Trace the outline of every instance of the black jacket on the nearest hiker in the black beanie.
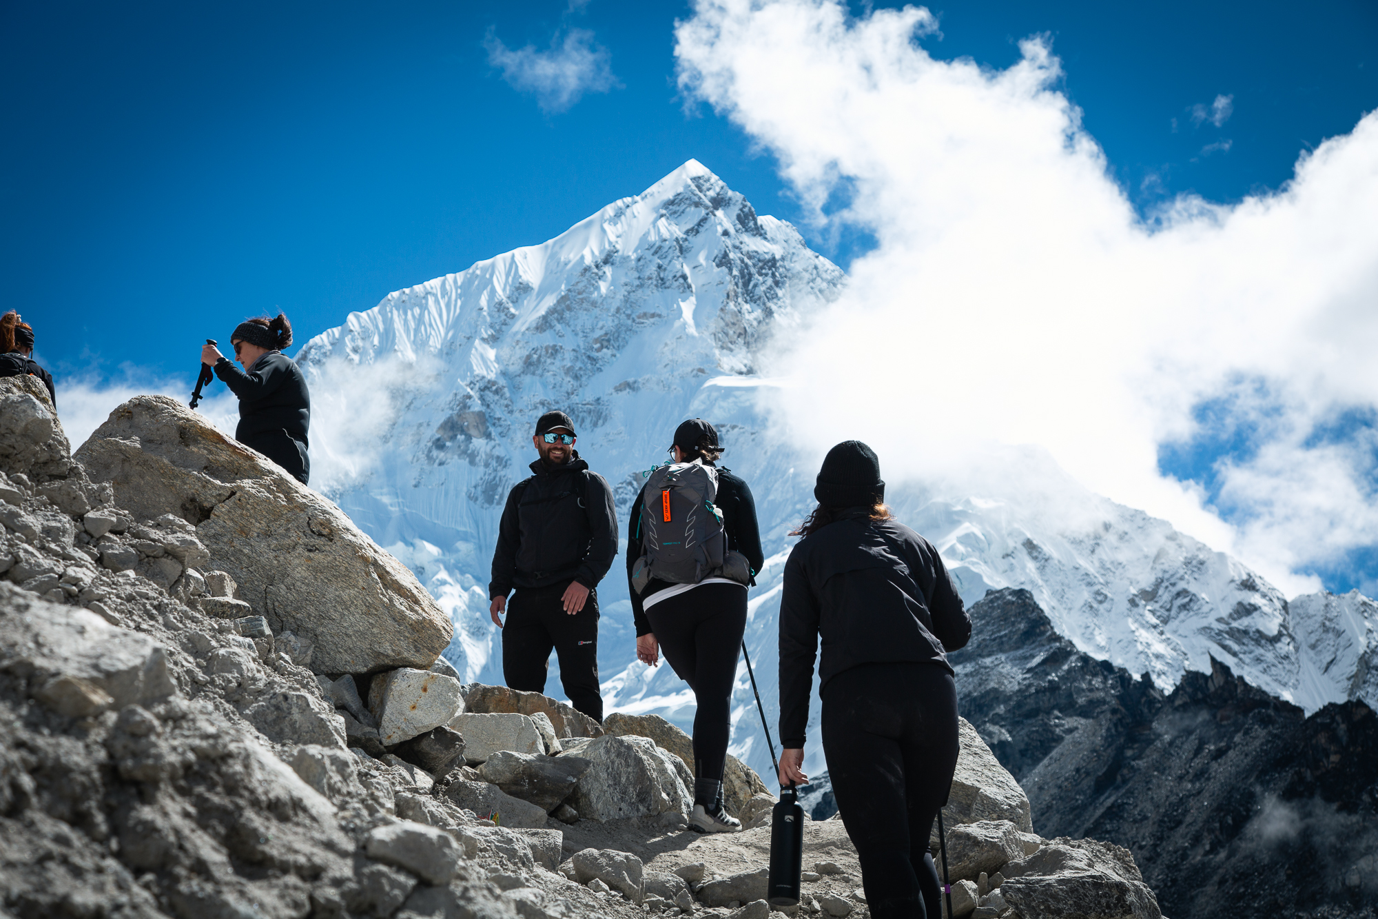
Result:
{"label": "black jacket on the nearest hiker in the black beanie", "polygon": [[952,673],[944,651],[971,638],[971,617],[933,544],[867,509],[794,546],[780,600],[780,744],[803,747],[813,660],[823,635],[821,689],[861,664],[914,661]]}

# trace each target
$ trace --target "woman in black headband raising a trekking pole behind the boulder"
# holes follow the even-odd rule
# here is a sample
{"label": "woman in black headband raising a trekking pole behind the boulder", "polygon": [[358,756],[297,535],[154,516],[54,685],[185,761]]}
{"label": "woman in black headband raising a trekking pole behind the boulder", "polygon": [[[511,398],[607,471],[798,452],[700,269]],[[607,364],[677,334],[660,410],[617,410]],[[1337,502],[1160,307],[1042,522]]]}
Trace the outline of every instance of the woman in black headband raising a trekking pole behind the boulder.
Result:
{"label": "woman in black headband raising a trekking pole behind the boulder", "polygon": [[292,344],[287,316],[259,316],[238,324],[230,335],[240,371],[215,345],[201,349],[201,363],[212,367],[240,397],[234,439],[287,469],[302,484],[311,473],[306,431],[311,425],[311,395],[306,377],[282,349]]}

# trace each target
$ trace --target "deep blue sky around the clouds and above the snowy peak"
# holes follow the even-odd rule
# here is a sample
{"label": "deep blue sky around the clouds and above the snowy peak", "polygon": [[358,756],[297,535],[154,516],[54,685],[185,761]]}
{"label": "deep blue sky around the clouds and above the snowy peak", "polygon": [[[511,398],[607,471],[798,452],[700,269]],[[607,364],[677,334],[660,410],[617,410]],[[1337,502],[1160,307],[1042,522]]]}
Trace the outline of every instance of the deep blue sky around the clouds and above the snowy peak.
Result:
{"label": "deep blue sky around the clouds and above the snowy peak", "polygon": [[[1378,108],[1370,0],[930,10],[938,32],[921,43],[940,59],[1003,69],[1018,40],[1047,36],[1062,91],[1145,217],[1182,193],[1233,203],[1277,189],[1298,155]],[[305,342],[391,290],[543,241],[690,157],[761,213],[801,222],[770,145],[679,91],[672,30],[690,12],[615,0],[8,4],[8,305],[36,326],[61,402],[77,378],[190,388],[201,339],[247,316],[284,309]],[[582,52],[594,84],[577,98],[532,91],[515,68],[528,46],[528,59]],[[864,228],[802,229],[843,268],[868,247]],[[1266,440],[1271,403],[1255,391],[1268,384],[1203,399],[1193,431],[1158,458],[1232,523],[1259,506],[1231,498],[1221,472]],[[1371,498],[1370,402],[1326,407],[1333,421],[1297,444],[1353,447]],[[1371,591],[1375,559],[1357,545],[1309,570]]]}

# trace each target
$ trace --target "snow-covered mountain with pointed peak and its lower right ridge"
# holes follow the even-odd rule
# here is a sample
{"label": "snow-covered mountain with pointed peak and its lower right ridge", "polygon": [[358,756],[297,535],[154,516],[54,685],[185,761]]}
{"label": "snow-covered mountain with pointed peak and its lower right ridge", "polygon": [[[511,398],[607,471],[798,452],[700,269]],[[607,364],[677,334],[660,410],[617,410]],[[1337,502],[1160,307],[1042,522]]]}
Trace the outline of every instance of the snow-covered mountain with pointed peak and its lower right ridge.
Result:
{"label": "snow-covered mountain with pointed peak and its lower right ridge", "polygon": [[[542,246],[397,291],[311,339],[298,357],[313,378],[313,458],[331,471],[331,495],[455,617],[446,655],[469,679],[502,682],[485,585],[503,500],[535,457],[536,417],[570,413],[623,526],[639,471],[664,458],[675,425],[711,419],[761,515],[768,563],[747,647],[773,731],[780,575],[816,468],[794,439],[763,433],[780,384],[761,375],[762,357],[842,283],[792,226],[758,217],[690,160]],[[992,475],[976,486],[898,483],[887,495],[938,545],[967,602],[1028,588],[1079,649],[1163,689],[1186,669],[1209,672],[1214,655],[1308,711],[1352,697],[1378,704],[1378,678],[1367,676],[1378,654],[1372,602],[1288,604],[1239,562],[1086,493],[1038,451],[992,458],[1000,464],[1042,491],[1011,491]],[[635,662],[621,564],[599,586],[606,704],[688,727],[688,687],[667,666]],[[547,691],[559,693],[554,661]],[[768,771],[744,666],[733,718],[733,752]],[[812,731],[806,769],[823,767]]]}

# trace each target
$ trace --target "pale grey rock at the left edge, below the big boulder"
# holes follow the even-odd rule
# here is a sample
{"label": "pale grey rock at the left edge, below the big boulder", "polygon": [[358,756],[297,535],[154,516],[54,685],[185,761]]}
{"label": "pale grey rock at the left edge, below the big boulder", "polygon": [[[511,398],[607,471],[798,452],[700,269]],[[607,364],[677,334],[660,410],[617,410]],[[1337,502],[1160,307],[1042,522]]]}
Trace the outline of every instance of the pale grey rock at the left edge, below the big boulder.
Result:
{"label": "pale grey rock at the left edge, below the big boulder", "polygon": [[0,669],[28,671],[30,684],[58,676],[84,680],[113,708],[150,705],[176,691],[167,653],[153,639],[113,626],[80,607],[55,606],[0,582]]}

